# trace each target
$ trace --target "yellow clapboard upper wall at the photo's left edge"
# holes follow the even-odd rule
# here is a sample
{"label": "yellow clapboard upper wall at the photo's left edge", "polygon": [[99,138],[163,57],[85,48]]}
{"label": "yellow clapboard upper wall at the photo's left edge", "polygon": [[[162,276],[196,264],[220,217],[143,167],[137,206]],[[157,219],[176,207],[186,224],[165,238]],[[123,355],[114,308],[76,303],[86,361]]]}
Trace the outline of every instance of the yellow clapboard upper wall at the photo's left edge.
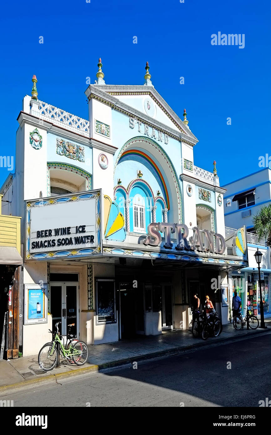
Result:
{"label": "yellow clapboard upper wall at the photo's left edge", "polygon": [[20,249],[20,221],[17,216],[5,216],[1,214],[2,196],[0,195],[0,246],[10,246]]}

